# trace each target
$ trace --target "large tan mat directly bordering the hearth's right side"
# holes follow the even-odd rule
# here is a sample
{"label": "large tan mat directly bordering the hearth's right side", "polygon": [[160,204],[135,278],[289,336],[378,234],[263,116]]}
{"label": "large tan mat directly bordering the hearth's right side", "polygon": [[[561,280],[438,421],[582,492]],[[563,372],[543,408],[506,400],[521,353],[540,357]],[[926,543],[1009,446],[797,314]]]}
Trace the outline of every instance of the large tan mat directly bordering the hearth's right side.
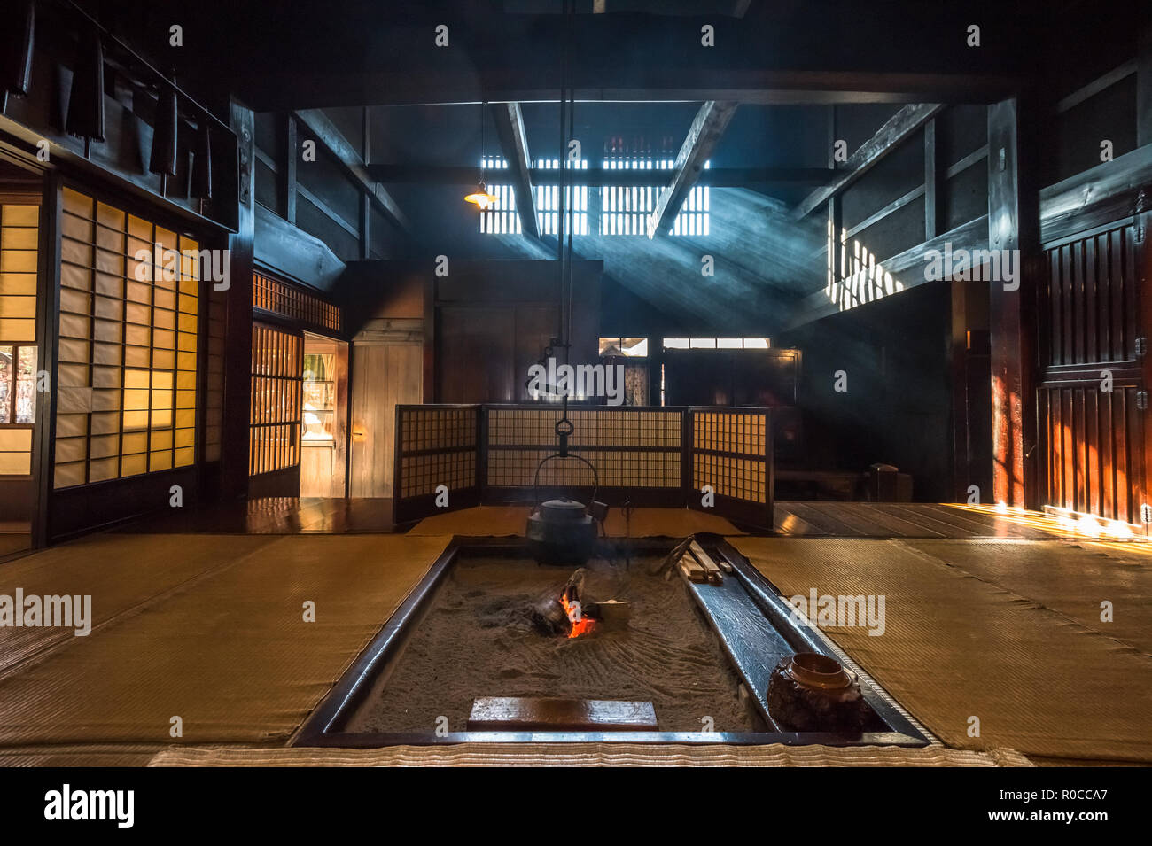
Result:
{"label": "large tan mat directly bordering the hearth's right side", "polygon": [[902,543],[732,543],[786,596],[884,595],[882,635],[826,631],[949,746],[1152,761],[1152,658],[1136,649]]}

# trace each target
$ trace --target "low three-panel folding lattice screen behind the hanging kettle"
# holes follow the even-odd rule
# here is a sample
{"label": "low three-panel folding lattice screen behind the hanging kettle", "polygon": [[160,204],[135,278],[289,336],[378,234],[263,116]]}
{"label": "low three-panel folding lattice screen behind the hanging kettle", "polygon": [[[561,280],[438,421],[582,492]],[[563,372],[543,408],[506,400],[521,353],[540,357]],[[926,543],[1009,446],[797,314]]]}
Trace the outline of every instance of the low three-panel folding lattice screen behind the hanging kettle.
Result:
{"label": "low three-panel folding lattice screen behind the hanging kettle", "polygon": [[[713,510],[772,528],[767,409],[569,409],[574,458],[556,452],[556,405],[401,405],[396,410],[395,519],[477,503],[528,503],[560,493],[609,505]],[[438,487],[447,505],[437,505]],[[712,490],[705,500],[702,490]]]}

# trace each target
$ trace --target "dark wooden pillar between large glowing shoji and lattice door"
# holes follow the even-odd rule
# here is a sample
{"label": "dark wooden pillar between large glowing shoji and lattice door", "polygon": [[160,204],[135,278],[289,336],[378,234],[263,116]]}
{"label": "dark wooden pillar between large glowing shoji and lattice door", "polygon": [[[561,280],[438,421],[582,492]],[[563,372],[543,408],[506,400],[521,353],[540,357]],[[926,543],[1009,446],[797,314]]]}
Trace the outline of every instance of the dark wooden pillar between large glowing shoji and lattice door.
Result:
{"label": "dark wooden pillar between large glowing shoji and lattice door", "polygon": [[248,493],[249,417],[252,390],[252,267],[256,238],[256,125],[250,108],[229,104],[238,145],[236,233],[228,236],[230,287],[225,322],[225,397],[221,491]]}

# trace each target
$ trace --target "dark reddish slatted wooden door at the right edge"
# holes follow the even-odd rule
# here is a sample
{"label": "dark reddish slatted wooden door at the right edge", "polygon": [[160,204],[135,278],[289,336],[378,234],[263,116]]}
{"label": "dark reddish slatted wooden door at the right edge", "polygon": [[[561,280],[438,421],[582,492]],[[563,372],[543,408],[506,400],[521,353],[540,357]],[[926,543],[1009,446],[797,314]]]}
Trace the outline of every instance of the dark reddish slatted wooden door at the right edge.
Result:
{"label": "dark reddish slatted wooden door at the right edge", "polygon": [[1045,245],[1037,427],[1044,503],[1144,525],[1149,214]]}

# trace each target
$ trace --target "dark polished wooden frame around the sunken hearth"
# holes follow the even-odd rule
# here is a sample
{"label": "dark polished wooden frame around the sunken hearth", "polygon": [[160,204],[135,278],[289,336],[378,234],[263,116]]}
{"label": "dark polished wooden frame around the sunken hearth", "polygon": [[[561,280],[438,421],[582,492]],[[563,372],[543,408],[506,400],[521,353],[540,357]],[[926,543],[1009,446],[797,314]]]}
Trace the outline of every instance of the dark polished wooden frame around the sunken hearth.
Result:
{"label": "dark polished wooden frame around the sunken hearth", "polygon": [[[672,541],[653,539],[632,540],[629,542],[631,555],[664,555],[670,550]],[[801,628],[791,620],[790,607],[780,596],[775,587],[759,573],[736,549],[722,538],[703,542],[705,549],[726,558],[765,618],[789,642],[796,651],[818,651],[836,661],[842,661],[842,654],[832,645],[828,638],[817,628]],[[289,746],[333,747],[333,748],[381,748],[386,746],[440,746],[465,742],[507,744],[507,742],[632,742],[632,744],[690,744],[710,745],[726,744],[733,746],[760,746],[783,744],[786,746],[901,746],[923,747],[930,740],[929,732],[919,726],[894,704],[890,694],[881,693],[880,686],[866,673],[861,674],[861,686],[864,698],[872,706],[881,721],[890,731],[864,732],[849,736],[832,732],[490,732],[462,731],[437,736],[432,732],[346,732],[342,726],[367,695],[377,686],[387,685],[387,678],[403,654],[404,646],[415,633],[424,615],[431,608],[432,600],[441,581],[448,574],[457,558],[479,556],[530,557],[523,539],[492,538],[453,538],[452,542],[432,563],[429,572],[412,588],[396,611],[388,618],[369,646],[357,656],[356,661],[336,681],[320,704],[312,711],[303,726],[289,741]],[[730,577],[729,577],[730,578]],[[689,585],[690,592],[706,588],[706,585]],[[699,597],[694,595],[699,604]],[[740,657],[733,654],[732,645],[719,628],[717,622],[702,608],[713,630],[734,663],[734,670],[745,681],[745,686],[757,698],[757,707],[761,718],[766,714],[765,692],[756,691],[749,685],[745,672],[740,666]],[[789,637],[791,635],[791,637]],[[856,668],[854,668],[856,669]],[[771,725],[771,722],[768,722]]]}

